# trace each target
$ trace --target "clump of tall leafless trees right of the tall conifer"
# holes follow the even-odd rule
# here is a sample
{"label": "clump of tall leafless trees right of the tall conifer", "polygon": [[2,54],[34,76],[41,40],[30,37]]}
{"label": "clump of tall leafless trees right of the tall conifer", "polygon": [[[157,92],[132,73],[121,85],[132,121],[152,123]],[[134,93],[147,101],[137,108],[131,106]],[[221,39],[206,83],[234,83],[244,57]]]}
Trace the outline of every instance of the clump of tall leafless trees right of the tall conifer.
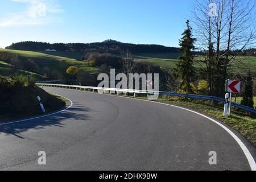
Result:
{"label": "clump of tall leafless trees right of the tall conifer", "polygon": [[208,72],[209,93],[221,96],[230,67],[239,72],[242,50],[255,46],[255,1],[200,0],[192,12],[196,46],[204,57],[198,63]]}

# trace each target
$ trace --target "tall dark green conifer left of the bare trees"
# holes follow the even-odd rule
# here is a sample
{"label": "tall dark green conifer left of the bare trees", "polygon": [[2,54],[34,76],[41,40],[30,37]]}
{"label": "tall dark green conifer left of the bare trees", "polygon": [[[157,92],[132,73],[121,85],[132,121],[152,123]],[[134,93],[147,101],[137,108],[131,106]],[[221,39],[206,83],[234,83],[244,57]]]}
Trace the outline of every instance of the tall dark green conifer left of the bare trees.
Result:
{"label": "tall dark green conifer left of the bare trees", "polygon": [[186,93],[193,93],[191,82],[195,77],[195,71],[193,67],[193,45],[196,39],[192,38],[192,28],[189,26],[189,20],[186,22],[187,29],[183,32],[183,38],[180,40],[180,52],[183,55],[179,57],[179,63],[177,63],[177,69],[179,77],[181,78],[180,88]]}

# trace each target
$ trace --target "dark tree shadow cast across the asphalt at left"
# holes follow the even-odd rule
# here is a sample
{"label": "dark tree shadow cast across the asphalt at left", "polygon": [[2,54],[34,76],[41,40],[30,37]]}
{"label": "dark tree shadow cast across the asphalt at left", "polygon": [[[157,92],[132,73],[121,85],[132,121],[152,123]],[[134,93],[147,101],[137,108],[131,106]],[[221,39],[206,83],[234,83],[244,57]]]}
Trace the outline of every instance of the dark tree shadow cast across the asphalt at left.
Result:
{"label": "dark tree shadow cast across the asphalt at left", "polygon": [[49,126],[64,127],[65,123],[69,121],[89,121],[91,118],[86,114],[88,111],[91,111],[89,107],[74,103],[68,110],[47,117],[0,125],[0,134],[15,135],[23,139],[20,133],[30,129],[42,130]]}

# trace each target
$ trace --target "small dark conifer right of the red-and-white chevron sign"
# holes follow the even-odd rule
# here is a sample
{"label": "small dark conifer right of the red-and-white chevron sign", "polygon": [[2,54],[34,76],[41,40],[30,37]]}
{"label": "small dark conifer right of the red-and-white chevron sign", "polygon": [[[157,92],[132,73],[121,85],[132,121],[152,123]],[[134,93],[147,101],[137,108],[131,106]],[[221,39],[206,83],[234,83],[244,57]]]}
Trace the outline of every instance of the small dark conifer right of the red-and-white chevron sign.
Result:
{"label": "small dark conifer right of the red-and-white chevron sign", "polygon": [[242,105],[253,107],[253,78],[249,71],[246,77],[245,92],[243,92]]}

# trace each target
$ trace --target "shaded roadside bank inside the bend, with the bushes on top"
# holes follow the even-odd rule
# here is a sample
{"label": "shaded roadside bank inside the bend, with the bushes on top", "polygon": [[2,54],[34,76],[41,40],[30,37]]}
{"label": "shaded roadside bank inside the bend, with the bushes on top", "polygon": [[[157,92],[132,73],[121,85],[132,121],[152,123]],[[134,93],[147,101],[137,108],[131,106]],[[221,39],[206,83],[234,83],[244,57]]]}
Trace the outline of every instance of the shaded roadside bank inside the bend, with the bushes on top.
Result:
{"label": "shaded roadside bank inside the bend, with the bushes on top", "polygon": [[42,99],[46,113],[65,106],[63,98],[47,93],[34,83],[28,83],[24,78],[0,76],[0,123],[43,114],[38,96]]}

